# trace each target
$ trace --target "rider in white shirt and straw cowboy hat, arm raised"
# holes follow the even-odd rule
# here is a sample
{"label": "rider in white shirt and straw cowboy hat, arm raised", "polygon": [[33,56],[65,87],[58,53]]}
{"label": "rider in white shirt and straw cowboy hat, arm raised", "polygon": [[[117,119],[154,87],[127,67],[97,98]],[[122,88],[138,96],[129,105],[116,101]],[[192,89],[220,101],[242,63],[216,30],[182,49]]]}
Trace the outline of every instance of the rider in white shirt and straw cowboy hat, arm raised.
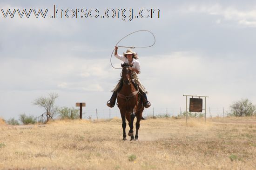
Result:
{"label": "rider in white shirt and straw cowboy hat, arm raised", "polygon": [[[138,88],[137,90],[139,90],[139,92],[141,93],[141,97],[143,100],[143,106],[148,108],[150,107],[150,102],[148,102],[147,99],[147,91],[144,88],[144,86],[141,84],[137,74],[141,73],[141,66],[140,66],[140,62],[137,60],[137,53],[135,53],[134,51],[132,51],[131,49],[126,50],[126,53],[123,53],[123,55],[120,55],[117,53],[117,49],[118,47],[115,47],[115,57],[122,60],[124,63],[128,63],[128,64],[133,64],[132,66],[132,70],[133,70],[133,75],[132,78],[135,82],[135,88]],[[118,84],[116,85],[116,87],[113,90],[113,94],[111,96],[111,99],[108,101],[107,105],[108,107],[114,107],[115,106],[115,100],[117,98],[117,94],[119,93],[119,91],[121,90],[121,84],[122,81],[119,81]],[[137,87],[136,87],[137,86]]]}

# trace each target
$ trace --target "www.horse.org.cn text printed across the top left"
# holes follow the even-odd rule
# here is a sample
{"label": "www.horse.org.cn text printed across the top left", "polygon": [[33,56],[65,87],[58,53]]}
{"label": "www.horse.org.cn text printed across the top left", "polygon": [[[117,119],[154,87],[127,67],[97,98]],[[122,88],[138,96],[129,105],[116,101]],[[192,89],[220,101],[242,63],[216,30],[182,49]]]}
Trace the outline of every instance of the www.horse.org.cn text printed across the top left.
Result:
{"label": "www.horse.org.cn text printed across the top left", "polygon": [[[103,12],[104,11],[104,12]],[[1,8],[0,18],[13,19],[15,18],[50,18],[50,19],[121,19],[123,21],[132,21],[133,19],[160,19],[161,12],[160,9],[155,8],[108,8],[106,10],[98,10],[96,8],[86,9],[86,8],[59,8],[54,5],[52,9],[52,15],[48,13],[47,9],[3,9]],[[34,14],[34,15],[33,15]]]}

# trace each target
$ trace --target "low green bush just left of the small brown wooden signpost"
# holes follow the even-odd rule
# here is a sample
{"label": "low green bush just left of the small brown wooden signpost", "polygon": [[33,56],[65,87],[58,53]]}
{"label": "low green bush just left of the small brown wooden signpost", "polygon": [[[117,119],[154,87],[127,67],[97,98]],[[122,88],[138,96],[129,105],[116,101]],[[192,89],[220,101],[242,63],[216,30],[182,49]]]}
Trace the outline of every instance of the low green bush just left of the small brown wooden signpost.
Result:
{"label": "low green bush just left of the small brown wooden signpost", "polygon": [[79,109],[75,109],[74,107],[61,107],[58,109],[58,113],[61,119],[78,119],[79,118]]}

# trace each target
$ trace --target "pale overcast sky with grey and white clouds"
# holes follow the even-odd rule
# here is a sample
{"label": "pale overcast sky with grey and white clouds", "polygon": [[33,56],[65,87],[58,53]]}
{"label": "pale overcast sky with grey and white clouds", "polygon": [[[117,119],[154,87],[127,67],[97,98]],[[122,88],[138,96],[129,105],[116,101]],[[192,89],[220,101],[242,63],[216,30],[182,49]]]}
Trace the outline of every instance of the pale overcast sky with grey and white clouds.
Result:
{"label": "pale overcast sky with grey and white clouds", "polygon": [[[54,5],[71,9],[134,10],[134,18],[50,18]],[[236,100],[256,104],[256,2],[251,0],[1,0],[0,9],[48,8],[47,16],[27,19],[0,11],[0,117],[21,113],[39,116],[42,108],[32,101],[58,93],[56,105],[74,107],[86,102],[85,112],[109,112],[106,102],[120,77],[110,65],[115,44],[137,30],[154,33],[150,48],[136,48],[142,84],[152,106],[179,113],[185,108],[182,94],[209,95],[212,112],[226,110]],[[159,9],[161,18],[135,18],[141,9]],[[58,14],[58,13],[57,13]],[[150,13],[149,13],[150,14]],[[60,14],[59,14],[60,15]],[[95,13],[93,13],[95,16]],[[148,46],[154,38],[138,32],[122,40],[123,46]],[[119,53],[125,48],[120,48]],[[112,62],[119,67],[121,61]],[[116,112],[117,107],[113,110]],[[208,108],[209,109],[209,108]]]}

